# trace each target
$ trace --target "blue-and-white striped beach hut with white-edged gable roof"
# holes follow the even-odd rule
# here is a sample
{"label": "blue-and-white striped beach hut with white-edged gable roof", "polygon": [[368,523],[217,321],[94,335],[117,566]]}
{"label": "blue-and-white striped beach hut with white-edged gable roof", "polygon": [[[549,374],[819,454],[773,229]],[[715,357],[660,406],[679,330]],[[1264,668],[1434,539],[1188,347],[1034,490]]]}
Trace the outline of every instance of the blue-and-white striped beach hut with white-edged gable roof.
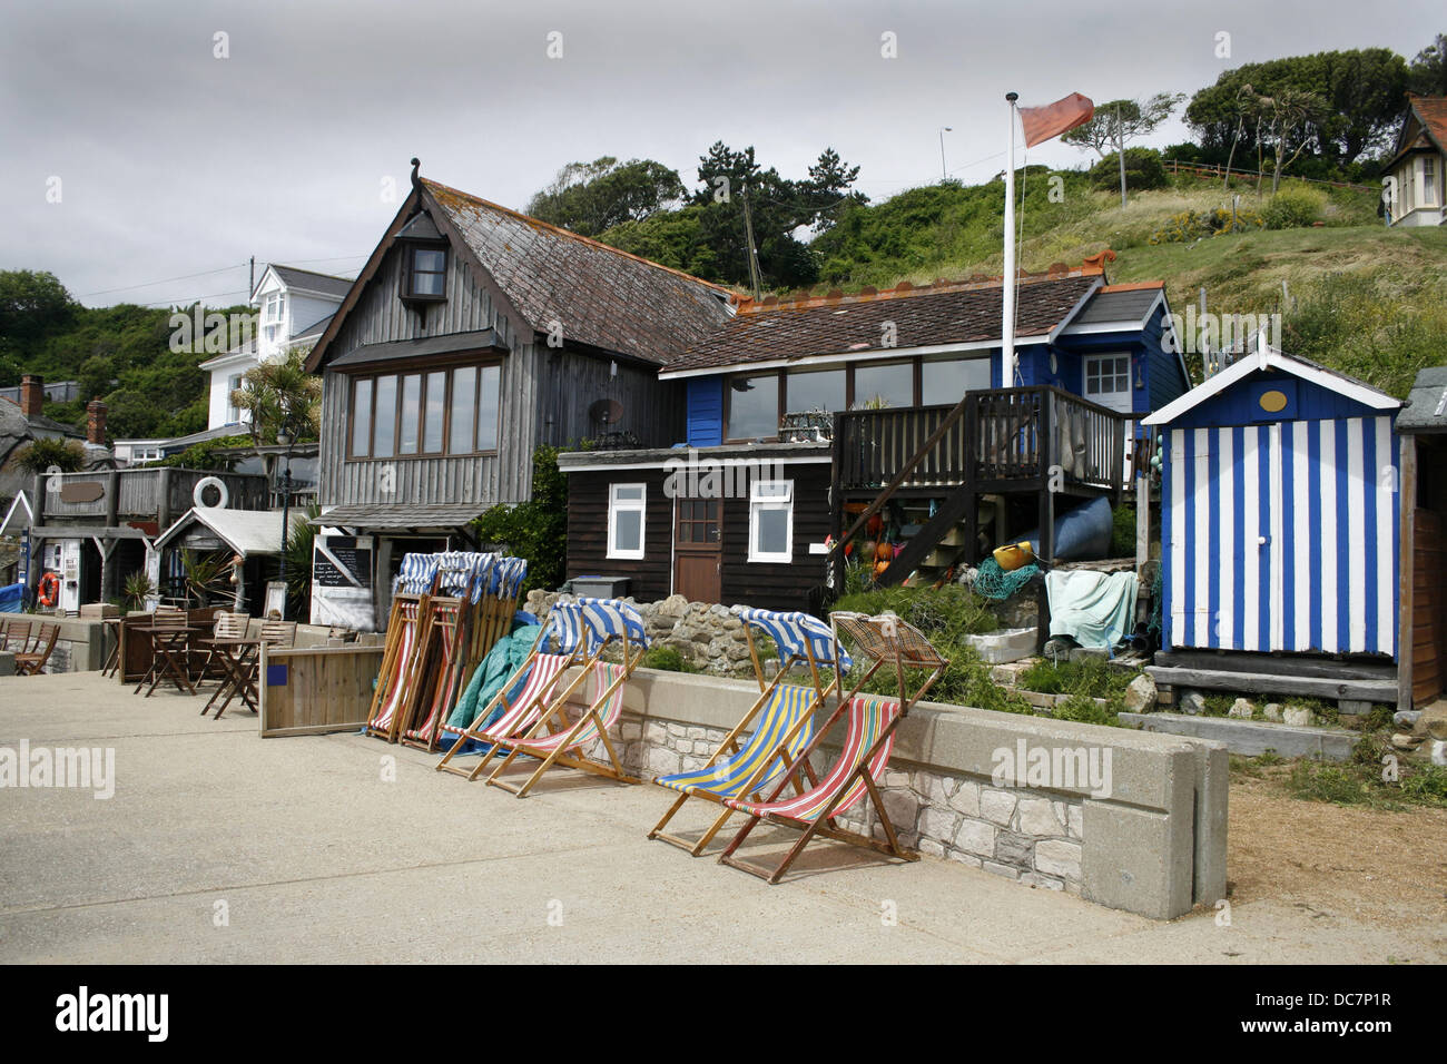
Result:
{"label": "blue-and-white striped beach hut with white-edged gable roof", "polygon": [[1166,650],[1396,657],[1401,405],[1263,346],[1145,418]]}

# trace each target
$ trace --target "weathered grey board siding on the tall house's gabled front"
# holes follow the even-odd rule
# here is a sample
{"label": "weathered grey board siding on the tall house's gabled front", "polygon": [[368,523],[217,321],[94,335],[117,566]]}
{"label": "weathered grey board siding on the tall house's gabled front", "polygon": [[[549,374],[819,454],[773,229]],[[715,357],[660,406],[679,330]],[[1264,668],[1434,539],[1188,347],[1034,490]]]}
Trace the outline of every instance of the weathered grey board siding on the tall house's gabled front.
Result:
{"label": "weathered grey board siding on the tall house's gabled front", "polygon": [[[502,358],[502,401],[498,411],[496,455],[479,457],[347,459],[350,378],[324,372],[321,401],[321,505],[410,502],[518,502],[532,482],[532,447],[538,408],[537,353],[532,333],[495,305],[478,285],[462,256],[447,256],[447,300],[430,305],[425,317],[398,298],[401,249],[392,248],[362,292],[331,345],[333,356],[366,343],[414,340],[449,333],[495,329],[509,355]],[[381,369],[381,366],[378,366]],[[521,446],[519,446],[521,444]],[[392,469],[394,491],[385,492],[381,466]]]}

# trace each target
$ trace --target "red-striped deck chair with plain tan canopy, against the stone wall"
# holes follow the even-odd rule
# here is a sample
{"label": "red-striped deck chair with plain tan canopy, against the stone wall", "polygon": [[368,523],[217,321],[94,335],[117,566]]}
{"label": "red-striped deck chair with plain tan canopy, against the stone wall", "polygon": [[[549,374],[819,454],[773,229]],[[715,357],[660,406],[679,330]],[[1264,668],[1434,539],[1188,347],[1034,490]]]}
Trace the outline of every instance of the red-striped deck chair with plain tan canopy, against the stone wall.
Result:
{"label": "red-striped deck chair with plain tan canopy, against the stone wall", "polygon": [[[939,651],[917,628],[893,614],[867,617],[864,614],[835,612],[829,615],[829,620],[835,631],[844,634],[854,644],[855,654],[862,657],[867,667],[861,670],[854,689],[841,699],[839,706],[813,734],[813,738],[794,759],[765,801],[750,798],[724,801],[731,809],[747,814],[748,821],[719,856],[719,861],[770,883],[777,883],[789,871],[789,866],[794,863],[815,835],[868,847],[907,861],[919,860],[919,854],[900,845],[894,824],[890,821],[880,796],[880,779],[888,766],[899,722],[909,712],[910,705],[923,698],[925,692],[943,675],[949,662],[939,656]],[[883,666],[893,666],[899,682],[899,695],[860,693]],[[919,679],[922,672],[923,680]],[[842,689],[842,673],[838,682]],[[825,737],[841,721],[846,727],[838,759],[822,779],[815,780],[815,776],[809,773],[812,786],[805,790],[799,773],[806,769],[809,756],[819,748]],[[797,793],[786,798],[784,789],[790,782],[794,783]],[[846,831],[835,819],[865,795],[874,805],[880,825],[884,828],[883,843],[870,835]],[[735,856],[760,821],[802,832],[784,858],[771,869]]]}

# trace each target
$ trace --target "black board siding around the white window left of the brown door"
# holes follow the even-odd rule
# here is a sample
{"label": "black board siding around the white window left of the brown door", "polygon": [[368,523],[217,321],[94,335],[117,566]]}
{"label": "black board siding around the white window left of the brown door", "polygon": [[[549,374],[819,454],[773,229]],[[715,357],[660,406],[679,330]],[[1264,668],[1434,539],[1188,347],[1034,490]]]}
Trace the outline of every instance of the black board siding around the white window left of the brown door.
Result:
{"label": "black board siding around the white window left of the brown door", "polygon": [[[673,499],[663,492],[663,469],[598,469],[567,476],[566,576],[628,576],[628,594],[640,602],[669,596],[673,580]],[[647,484],[644,557],[608,557],[608,488]]]}

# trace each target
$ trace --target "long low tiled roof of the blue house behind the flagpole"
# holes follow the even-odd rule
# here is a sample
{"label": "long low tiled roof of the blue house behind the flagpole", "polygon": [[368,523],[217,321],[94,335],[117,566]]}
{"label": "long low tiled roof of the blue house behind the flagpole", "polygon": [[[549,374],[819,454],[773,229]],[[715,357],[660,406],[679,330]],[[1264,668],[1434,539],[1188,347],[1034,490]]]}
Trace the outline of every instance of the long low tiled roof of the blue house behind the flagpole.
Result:
{"label": "long low tiled roof of the blue house behind the flagpole", "polygon": [[[1016,340],[1051,339],[1103,282],[1101,271],[1081,269],[1020,282]],[[891,349],[1000,345],[1003,285],[939,281],[901,284],[884,292],[745,304],[722,329],[692,345],[660,376],[683,376],[728,366],[776,365],[802,358],[854,358]],[[893,323],[893,329],[890,329]],[[886,346],[886,337],[894,343]]]}

